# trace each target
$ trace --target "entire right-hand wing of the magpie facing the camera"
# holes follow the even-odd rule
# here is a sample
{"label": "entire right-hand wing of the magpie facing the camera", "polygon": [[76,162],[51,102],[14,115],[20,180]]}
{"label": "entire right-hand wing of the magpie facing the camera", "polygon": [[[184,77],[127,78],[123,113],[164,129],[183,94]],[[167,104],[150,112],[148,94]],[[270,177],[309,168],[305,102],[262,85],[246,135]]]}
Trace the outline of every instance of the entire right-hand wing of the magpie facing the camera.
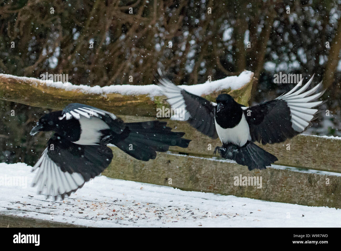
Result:
{"label": "entire right-hand wing of the magpie facing the camera", "polygon": [[315,118],[314,115],[323,101],[313,101],[324,93],[316,93],[322,82],[305,92],[313,80],[311,79],[299,90],[302,80],[288,93],[263,104],[242,107],[249,124],[252,141],[262,144],[279,143],[302,133]]}

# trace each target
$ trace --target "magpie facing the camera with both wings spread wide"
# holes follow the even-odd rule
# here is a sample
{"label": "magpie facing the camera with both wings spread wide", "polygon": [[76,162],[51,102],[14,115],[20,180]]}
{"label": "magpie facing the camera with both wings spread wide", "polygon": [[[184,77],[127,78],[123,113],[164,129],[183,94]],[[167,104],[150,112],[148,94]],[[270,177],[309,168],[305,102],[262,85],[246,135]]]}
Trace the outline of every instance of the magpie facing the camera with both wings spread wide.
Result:
{"label": "magpie facing the camera with both wings spread wide", "polygon": [[[201,133],[216,139],[221,147],[216,147],[223,158],[232,159],[249,170],[265,169],[278,161],[277,157],[254,144],[258,141],[280,143],[302,133],[318,112],[313,107],[323,101],[313,101],[324,93],[316,93],[322,82],[306,91],[312,78],[300,89],[302,80],[288,93],[256,106],[245,107],[230,95],[220,94],[217,103],[187,92],[170,82],[158,69],[163,95],[175,111],[184,109],[183,118]],[[176,117],[177,114],[174,115]]]}

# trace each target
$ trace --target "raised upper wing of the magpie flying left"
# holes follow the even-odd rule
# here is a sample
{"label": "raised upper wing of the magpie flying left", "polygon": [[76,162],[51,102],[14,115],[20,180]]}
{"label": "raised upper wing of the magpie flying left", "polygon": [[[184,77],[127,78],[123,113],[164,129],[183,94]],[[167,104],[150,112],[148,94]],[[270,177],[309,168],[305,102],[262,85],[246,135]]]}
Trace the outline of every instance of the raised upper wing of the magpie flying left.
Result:
{"label": "raised upper wing of the magpie flying left", "polygon": [[62,116],[59,119],[66,118],[66,120],[69,120],[74,117],[79,120],[81,116],[89,119],[93,116],[98,117],[117,134],[120,134],[125,128],[124,122],[113,113],[79,103],[68,104],[62,111]]}

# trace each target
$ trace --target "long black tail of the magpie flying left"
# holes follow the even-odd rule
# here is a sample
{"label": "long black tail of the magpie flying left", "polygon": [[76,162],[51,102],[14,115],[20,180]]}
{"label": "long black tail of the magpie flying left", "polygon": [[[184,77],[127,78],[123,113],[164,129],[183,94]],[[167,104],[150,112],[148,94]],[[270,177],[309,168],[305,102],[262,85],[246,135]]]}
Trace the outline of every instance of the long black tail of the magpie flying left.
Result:
{"label": "long black tail of the magpie flying left", "polygon": [[187,148],[191,140],[183,139],[185,133],[174,132],[165,121],[126,123],[124,131],[110,143],[142,161],[156,158],[156,152],[166,152],[169,146]]}

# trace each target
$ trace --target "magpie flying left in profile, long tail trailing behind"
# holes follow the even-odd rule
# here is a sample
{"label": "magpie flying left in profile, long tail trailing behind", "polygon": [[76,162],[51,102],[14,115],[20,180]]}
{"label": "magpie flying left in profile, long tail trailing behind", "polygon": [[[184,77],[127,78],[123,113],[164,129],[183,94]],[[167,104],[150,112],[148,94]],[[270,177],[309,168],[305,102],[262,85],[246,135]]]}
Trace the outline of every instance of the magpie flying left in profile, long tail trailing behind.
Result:
{"label": "magpie flying left in profile, long tail trailing behind", "polygon": [[142,161],[155,159],[156,152],[170,145],[187,148],[185,133],[171,131],[166,122],[124,123],[114,114],[85,104],[71,103],[62,111],[42,116],[30,132],[55,131],[33,170],[33,186],[39,193],[62,198],[99,175],[110,164],[114,144]]}

